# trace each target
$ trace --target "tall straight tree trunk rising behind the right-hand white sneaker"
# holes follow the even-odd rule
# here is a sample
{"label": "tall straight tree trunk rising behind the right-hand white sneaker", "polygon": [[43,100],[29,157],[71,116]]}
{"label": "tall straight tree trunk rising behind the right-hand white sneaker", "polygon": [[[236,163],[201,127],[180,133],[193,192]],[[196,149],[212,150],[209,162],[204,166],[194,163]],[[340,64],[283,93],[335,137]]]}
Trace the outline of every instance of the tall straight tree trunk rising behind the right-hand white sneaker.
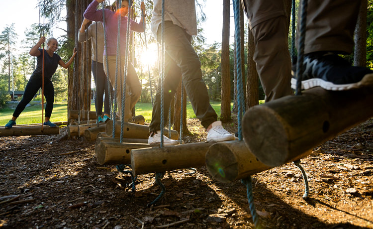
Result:
{"label": "tall straight tree trunk rising behind the right-hand white sneaker", "polygon": [[230,21],[230,1],[223,0],[223,31],[221,42],[221,105],[220,119],[228,121],[230,114],[230,64],[229,64],[229,21]]}

